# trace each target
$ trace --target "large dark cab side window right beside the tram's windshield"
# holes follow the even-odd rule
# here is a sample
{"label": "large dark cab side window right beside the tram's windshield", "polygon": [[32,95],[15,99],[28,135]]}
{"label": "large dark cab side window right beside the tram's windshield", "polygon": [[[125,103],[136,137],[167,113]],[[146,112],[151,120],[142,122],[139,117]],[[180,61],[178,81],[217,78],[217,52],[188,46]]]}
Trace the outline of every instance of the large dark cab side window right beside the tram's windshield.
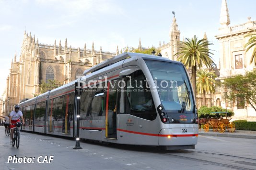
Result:
{"label": "large dark cab side window right beside the tram's windshield", "polygon": [[125,95],[126,113],[147,119],[156,118],[156,110],[151,91],[146,86],[146,78],[141,70],[135,71],[127,78]]}

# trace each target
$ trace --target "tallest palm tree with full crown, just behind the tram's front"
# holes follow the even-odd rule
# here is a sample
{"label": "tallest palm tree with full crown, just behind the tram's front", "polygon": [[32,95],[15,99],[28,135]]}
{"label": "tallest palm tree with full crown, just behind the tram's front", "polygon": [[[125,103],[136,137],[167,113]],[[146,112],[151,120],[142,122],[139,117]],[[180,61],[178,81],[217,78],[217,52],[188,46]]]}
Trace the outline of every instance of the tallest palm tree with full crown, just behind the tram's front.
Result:
{"label": "tallest palm tree with full crown, just behind the tram's front", "polygon": [[209,45],[213,45],[209,43],[205,39],[200,39],[194,35],[194,38],[180,42],[178,48],[180,49],[175,56],[178,56],[177,61],[181,61],[186,68],[191,68],[192,70],[192,87],[195,93],[195,97],[197,96],[196,91],[196,78],[197,78],[197,68],[202,68],[206,66],[207,68],[213,68],[215,63],[213,62],[212,57],[213,55],[208,48]]}

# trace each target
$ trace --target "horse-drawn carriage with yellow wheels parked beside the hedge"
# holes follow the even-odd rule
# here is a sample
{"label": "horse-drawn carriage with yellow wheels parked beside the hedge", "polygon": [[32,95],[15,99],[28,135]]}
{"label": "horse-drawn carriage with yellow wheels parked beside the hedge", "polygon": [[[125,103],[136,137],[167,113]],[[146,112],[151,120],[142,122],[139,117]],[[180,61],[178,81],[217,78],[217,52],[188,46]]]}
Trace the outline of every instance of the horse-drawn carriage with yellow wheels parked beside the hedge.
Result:
{"label": "horse-drawn carriage with yellow wheels parked beside the hedge", "polygon": [[[215,113],[225,113],[225,112],[215,112]],[[212,128],[213,132],[219,131],[223,133],[228,129],[229,132],[235,131],[235,124],[230,122],[231,119],[220,119],[217,118],[203,118],[199,120],[199,131],[201,131],[201,125],[204,125],[204,131],[209,132],[209,128]]]}

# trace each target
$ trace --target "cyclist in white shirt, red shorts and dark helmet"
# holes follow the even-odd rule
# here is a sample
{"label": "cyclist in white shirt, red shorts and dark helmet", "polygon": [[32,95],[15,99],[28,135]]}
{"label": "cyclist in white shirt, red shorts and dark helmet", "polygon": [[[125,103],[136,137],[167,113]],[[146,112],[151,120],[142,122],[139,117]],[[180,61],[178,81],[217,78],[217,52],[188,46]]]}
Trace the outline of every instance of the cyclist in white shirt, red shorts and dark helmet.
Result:
{"label": "cyclist in white shirt, red shorts and dark helmet", "polygon": [[15,105],[14,109],[15,110],[10,113],[10,129],[11,129],[11,142],[10,142],[10,145],[12,145],[13,129],[16,127],[15,124],[17,122],[20,122],[20,117],[22,118],[23,125],[25,124],[25,121],[23,119],[23,114],[20,111],[20,106]]}

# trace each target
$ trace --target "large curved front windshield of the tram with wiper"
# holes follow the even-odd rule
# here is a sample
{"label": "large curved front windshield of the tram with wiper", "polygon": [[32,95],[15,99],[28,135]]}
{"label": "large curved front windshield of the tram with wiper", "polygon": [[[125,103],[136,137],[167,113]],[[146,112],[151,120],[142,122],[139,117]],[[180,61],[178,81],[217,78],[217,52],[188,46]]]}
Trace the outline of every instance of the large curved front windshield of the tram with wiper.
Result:
{"label": "large curved front windshield of the tram with wiper", "polygon": [[193,111],[190,83],[181,64],[145,60],[166,112]]}

